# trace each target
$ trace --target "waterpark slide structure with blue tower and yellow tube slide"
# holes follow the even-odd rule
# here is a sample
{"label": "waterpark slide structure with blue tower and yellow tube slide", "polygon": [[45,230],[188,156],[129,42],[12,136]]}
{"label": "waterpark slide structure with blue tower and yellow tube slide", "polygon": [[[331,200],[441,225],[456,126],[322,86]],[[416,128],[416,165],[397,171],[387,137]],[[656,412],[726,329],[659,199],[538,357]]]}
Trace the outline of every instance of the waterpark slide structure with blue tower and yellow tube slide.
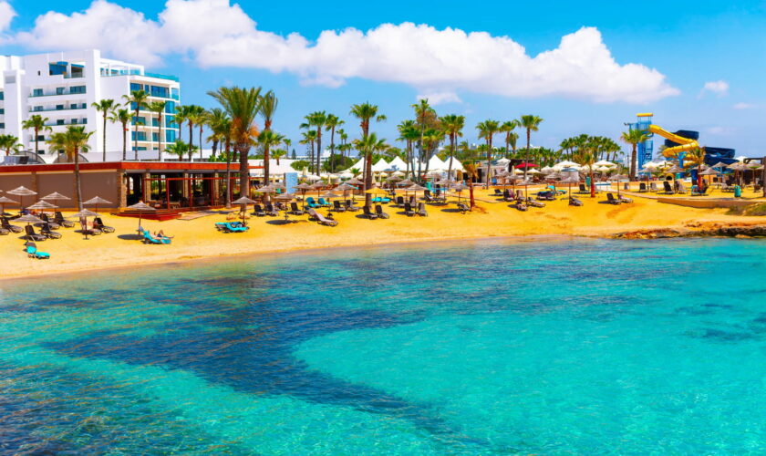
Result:
{"label": "waterpark slide structure with blue tower and yellow tube slide", "polygon": [[683,161],[683,156],[688,150],[702,149],[705,150],[705,163],[713,165],[716,163],[733,163],[734,149],[709,147],[699,145],[699,131],[693,130],[678,130],[673,133],[662,127],[652,123],[654,114],[639,113],[637,114],[637,121],[635,123],[628,124],[630,130],[641,130],[647,134],[647,140],[640,142],[637,147],[638,155],[638,168],[642,168],[645,163],[652,161],[654,158],[654,135],[657,134],[662,138],[665,138],[665,149],[663,153],[672,156],[677,155],[678,158]]}

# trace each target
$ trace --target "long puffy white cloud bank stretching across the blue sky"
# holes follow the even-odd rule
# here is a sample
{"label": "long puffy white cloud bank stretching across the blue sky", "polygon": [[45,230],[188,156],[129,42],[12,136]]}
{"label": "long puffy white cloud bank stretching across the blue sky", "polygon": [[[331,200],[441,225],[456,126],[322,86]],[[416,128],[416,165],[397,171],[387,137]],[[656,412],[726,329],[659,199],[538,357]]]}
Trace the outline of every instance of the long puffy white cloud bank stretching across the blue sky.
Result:
{"label": "long puffy white cloud bank stretching across the blue sky", "polygon": [[[76,33],[75,33],[76,31]],[[601,33],[584,27],[530,56],[508,36],[428,25],[326,30],[310,41],[259,30],[229,0],[167,0],[158,19],[97,0],[70,16],[50,12],[17,40],[39,49],[100,47],[106,55],[158,65],[167,54],[201,67],[252,67],[338,87],[349,78],[407,84],[440,101],[470,91],[508,97],[647,103],[677,95],[656,69],[620,65]]]}

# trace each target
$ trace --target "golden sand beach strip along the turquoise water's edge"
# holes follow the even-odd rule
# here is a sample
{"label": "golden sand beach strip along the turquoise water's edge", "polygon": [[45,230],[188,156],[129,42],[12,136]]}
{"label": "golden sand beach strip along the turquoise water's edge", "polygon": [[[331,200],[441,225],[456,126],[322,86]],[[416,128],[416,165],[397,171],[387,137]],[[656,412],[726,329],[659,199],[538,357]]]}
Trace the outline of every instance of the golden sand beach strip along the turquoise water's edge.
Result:
{"label": "golden sand beach strip along the turquoise water's edge", "polygon": [[[530,189],[532,190],[532,189]],[[467,194],[467,192],[464,192]],[[528,212],[512,209],[498,202],[484,190],[476,191],[478,207],[473,212],[455,212],[455,205],[427,205],[428,217],[408,217],[401,210],[384,206],[388,220],[367,220],[361,212],[336,213],[337,227],[320,226],[306,216],[291,216],[295,223],[282,224],[283,217],[252,218],[247,233],[220,233],[215,222],[225,215],[203,216],[191,221],[143,221],[150,231],[163,230],[174,236],[171,245],[146,245],[135,240],[138,219],[104,216],[104,223],[116,233],[89,238],[62,228],[63,238],[37,243],[39,250],[50,254],[48,260],[33,260],[23,250],[19,234],[0,236],[0,278],[87,272],[108,267],[149,267],[196,258],[224,257],[235,254],[300,251],[355,245],[393,244],[435,240],[564,234],[604,236],[641,229],[682,228],[690,223],[761,222],[758,217],[727,215],[726,209],[695,209],[669,205],[652,199],[634,198],[630,204],[602,203],[602,193],[595,199],[585,195],[583,207],[570,207],[566,200],[546,202],[546,207]],[[325,212],[325,211],[322,211]],[[326,213],[326,212],[325,212]]]}

